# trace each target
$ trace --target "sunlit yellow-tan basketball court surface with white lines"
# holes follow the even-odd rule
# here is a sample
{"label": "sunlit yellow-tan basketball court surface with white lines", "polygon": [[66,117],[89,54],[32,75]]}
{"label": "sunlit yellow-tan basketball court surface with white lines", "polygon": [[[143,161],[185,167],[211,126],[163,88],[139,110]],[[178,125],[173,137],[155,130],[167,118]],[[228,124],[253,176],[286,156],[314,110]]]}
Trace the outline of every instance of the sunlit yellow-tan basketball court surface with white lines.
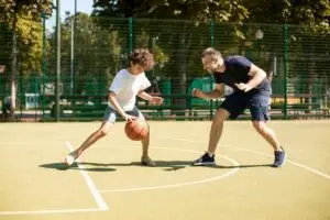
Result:
{"label": "sunlit yellow-tan basketball court surface with white lines", "polygon": [[228,121],[215,167],[193,167],[211,122],[151,121],[150,155],[118,122],[76,166],[63,158],[100,122],[3,123],[0,219],[330,219],[330,121],[272,121],[288,160],[249,121]]}

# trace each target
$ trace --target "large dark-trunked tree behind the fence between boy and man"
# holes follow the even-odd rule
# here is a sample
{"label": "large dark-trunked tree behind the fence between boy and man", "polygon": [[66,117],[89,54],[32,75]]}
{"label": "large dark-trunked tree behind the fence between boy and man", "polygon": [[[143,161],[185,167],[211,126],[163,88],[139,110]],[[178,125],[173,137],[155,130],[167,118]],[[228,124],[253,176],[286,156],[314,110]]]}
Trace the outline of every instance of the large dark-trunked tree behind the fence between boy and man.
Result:
{"label": "large dark-trunked tree behind the fence between boy and man", "polygon": [[[119,0],[119,1],[107,1],[99,0],[95,3],[94,14],[98,16],[123,16],[123,18],[148,18],[148,19],[176,19],[182,22],[173,24],[180,29],[180,32],[169,33],[167,30],[151,30],[148,22],[140,24],[134,30],[134,36],[139,37],[139,33],[148,33],[150,40],[154,36],[162,35],[161,42],[166,42],[167,45],[172,45],[176,50],[167,50],[162,47],[164,54],[169,57],[168,65],[163,72],[167,70],[167,75],[172,76],[172,92],[176,95],[185,95],[187,92],[187,73],[189,66],[196,64],[196,56],[199,57],[199,53],[194,53],[193,57],[189,54],[194,51],[194,40],[196,40],[196,29],[200,23],[209,23],[211,20],[217,22],[233,22],[233,29],[238,30],[246,18],[248,11],[241,4],[241,0],[227,1],[227,0]],[[186,22],[190,20],[191,22]],[[160,23],[160,21],[157,21]],[[166,34],[167,35],[166,35]],[[238,32],[238,34],[240,34]],[[198,34],[200,36],[200,34]],[[140,34],[141,36],[141,34]],[[202,41],[204,36],[200,36]],[[135,38],[135,42],[138,38]],[[208,40],[207,40],[208,41]],[[208,41],[209,43],[210,41]],[[140,44],[141,45],[141,44]],[[140,46],[139,45],[139,46]],[[210,45],[204,41],[201,45]],[[135,46],[138,46],[135,44]],[[194,51],[196,52],[196,50]],[[190,58],[190,59],[189,59]],[[175,72],[173,72],[176,69]],[[170,69],[172,68],[172,69]],[[186,100],[175,98],[173,105],[186,106]]]}

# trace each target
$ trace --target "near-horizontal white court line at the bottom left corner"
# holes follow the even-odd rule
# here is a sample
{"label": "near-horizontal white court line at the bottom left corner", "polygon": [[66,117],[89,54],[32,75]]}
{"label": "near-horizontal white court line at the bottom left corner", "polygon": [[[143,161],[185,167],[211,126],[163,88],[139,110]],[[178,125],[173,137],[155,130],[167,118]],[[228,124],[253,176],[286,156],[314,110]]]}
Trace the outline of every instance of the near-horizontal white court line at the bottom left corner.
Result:
{"label": "near-horizontal white court line at the bottom left corner", "polygon": [[13,215],[45,215],[45,213],[76,213],[76,212],[90,212],[103,211],[100,209],[59,209],[59,210],[37,210],[37,211],[0,211],[0,216]]}

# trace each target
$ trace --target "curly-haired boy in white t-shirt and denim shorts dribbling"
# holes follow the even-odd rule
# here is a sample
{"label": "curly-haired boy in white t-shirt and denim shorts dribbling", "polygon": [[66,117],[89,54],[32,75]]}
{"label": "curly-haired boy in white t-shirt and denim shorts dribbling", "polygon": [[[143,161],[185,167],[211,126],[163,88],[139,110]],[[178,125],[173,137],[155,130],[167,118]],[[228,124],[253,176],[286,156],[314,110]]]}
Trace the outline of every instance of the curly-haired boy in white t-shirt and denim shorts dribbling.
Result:
{"label": "curly-haired boy in white t-shirt and denim shorts dribbling", "polygon": [[[145,48],[138,48],[129,56],[130,67],[121,69],[114,77],[109,88],[109,107],[107,108],[101,127],[91,133],[87,140],[65,158],[70,166],[85,150],[91,144],[103,138],[114,124],[118,114],[125,121],[132,121],[136,118],[145,120],[141,111],[135,107],[136,96],[148,100],[155,105],[162,105],[163,98],[153,97],[144,91],[151,86],[144,72],[151,70],[154,66],[154,56]],[[142,141],[142,165],[155,166],[155,162],[148,157],[150,135]]]}

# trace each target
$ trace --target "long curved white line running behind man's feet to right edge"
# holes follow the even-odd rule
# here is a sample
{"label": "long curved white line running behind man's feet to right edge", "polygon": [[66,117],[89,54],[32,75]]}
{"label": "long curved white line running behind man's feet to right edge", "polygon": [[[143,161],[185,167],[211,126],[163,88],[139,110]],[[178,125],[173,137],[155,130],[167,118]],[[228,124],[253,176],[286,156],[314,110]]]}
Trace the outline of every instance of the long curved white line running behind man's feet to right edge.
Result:
{"label": "long curved white line running behind man's feet to right edge", "polygon": [[[164,138],[164,139],[169,139],[169,140],[175,140],[175,141],[184,141],[184,142],[190,142],[190,143],[199,143],[199,144],[207,144],[206,142],[200,142],[200,141],[194,141],[194,140],[188,140],[188,139],[176,139],[176,138]],[[220,145],[220,146],[224,146],[224,147],[232,147],[232,148],[238,148],[238,150],[241,150],[241,151],[245,151],[245,152],[250,152],[250,153],[254,153],[254,154],[261,154],[261,155],[265,155],[265,156],[268,156],[268,157],[274,157],[273,155],[271,154],[266,154],[266,153],[263,153],[263,152],[260,152],[260,151],[254,151],[254,150],[249,150],[249,148],[243,148],[243,147],[238,147],[238,146],[231,146],[231,145]],[[287,163],[290,163],[295,166],[298,166],[300,168],[304,168],[308,172],[311,172],[316,175],[319,175],[319,176],[322,176],[324,177],[326,179],[329,179],[330,180],[330,175],[328,174],[324,174],[323,172],[320,172],[316,168],[312,168],[312,167],[309,167],[309,166],[306,166],[304,164],[300,164],[298,162],[294,162],[294,161],[290,161],[290,160],[286,160]]]}

